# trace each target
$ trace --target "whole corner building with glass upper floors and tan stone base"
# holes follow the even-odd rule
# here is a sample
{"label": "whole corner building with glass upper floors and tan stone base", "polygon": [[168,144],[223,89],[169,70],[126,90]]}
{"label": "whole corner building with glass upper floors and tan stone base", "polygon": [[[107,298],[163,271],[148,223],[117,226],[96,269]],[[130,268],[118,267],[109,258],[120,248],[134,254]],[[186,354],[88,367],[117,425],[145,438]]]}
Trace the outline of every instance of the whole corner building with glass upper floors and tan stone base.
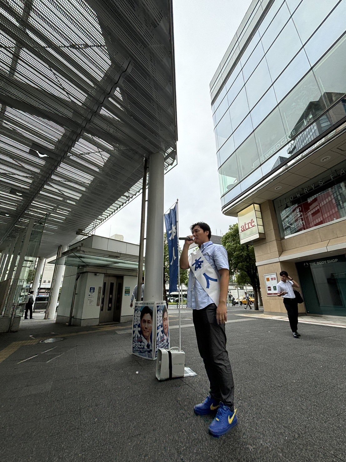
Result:
{"label": "whole corner building with glass upper floors and tan stone base", "polygon": [[[210,84],[222,212],[262,288],[298,281],[302,314],[346,316],[345,17],[346,0],[253,0]],[[245,241],[243,215],[261,236]]]}

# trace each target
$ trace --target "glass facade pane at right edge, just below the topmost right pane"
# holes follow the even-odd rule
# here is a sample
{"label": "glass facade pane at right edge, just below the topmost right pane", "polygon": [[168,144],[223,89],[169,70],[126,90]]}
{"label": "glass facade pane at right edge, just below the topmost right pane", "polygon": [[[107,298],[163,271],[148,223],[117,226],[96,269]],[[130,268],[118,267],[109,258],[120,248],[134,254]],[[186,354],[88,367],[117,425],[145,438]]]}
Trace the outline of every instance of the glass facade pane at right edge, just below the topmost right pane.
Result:
{"label": "glass facade pane at right edge, just below the topmost right pane", "polygon": [[[345,17],[346,1],[342,1],[328,16],[321,27],[316,30],[309,42],[306,43],[304,48],[311,66],[313,66],[345,32]],[[345,70],[343,72],[345,73]]]}

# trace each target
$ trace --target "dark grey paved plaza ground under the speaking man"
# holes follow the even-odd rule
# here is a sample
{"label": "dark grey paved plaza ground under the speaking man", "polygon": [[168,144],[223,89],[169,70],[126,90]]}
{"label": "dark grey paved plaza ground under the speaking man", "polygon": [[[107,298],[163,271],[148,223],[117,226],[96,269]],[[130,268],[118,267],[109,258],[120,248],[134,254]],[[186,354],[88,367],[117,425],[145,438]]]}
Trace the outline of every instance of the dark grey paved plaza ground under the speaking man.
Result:
{"label": "dark grey paved plaza ground under the speaking man", "polygon": [[[177,310],[169,316],[176,346]],[[300,322],[294,339],[285,317],[232,308],[239,424],[217,439],[211,419],[193,413],[208,383],[191,311],[181,316],[182,347],[197,376],[166,382],[155,361],[131,355],[129,323],[77,328],[35,317],[0,335],[1,461],[346,460],[343,327]]]}

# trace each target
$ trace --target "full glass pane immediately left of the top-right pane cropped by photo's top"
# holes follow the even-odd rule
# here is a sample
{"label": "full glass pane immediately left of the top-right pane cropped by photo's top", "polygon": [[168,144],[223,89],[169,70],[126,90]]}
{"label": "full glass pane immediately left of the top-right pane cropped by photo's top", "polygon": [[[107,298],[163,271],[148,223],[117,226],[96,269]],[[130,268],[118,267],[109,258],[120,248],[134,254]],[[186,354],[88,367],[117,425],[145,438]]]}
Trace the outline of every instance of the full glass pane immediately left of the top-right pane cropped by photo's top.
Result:
{"label": "full glass pane immediately left of the top-right pane cropped by photo's top", "polygon": [[268,49],[266,59],[272,80],[285,69],[294,55],[302,48],[302,43],[292,19],[280,32],[273,45]]}

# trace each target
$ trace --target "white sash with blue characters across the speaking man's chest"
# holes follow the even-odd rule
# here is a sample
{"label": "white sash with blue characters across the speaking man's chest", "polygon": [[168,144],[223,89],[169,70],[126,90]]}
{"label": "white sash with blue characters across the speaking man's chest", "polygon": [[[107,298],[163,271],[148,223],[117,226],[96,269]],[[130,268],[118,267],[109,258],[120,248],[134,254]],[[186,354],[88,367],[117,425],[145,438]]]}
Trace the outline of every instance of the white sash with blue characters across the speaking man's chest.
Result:
{"label": "white sash with blue characters across the speaking man's chest", "polygon": [[189,255],[189,264],[195,278],[217,306],[220,298],[219,274],[217,274],[215,269],[209,265],[208,261],[203,256],[201,249],[197,249]]}

